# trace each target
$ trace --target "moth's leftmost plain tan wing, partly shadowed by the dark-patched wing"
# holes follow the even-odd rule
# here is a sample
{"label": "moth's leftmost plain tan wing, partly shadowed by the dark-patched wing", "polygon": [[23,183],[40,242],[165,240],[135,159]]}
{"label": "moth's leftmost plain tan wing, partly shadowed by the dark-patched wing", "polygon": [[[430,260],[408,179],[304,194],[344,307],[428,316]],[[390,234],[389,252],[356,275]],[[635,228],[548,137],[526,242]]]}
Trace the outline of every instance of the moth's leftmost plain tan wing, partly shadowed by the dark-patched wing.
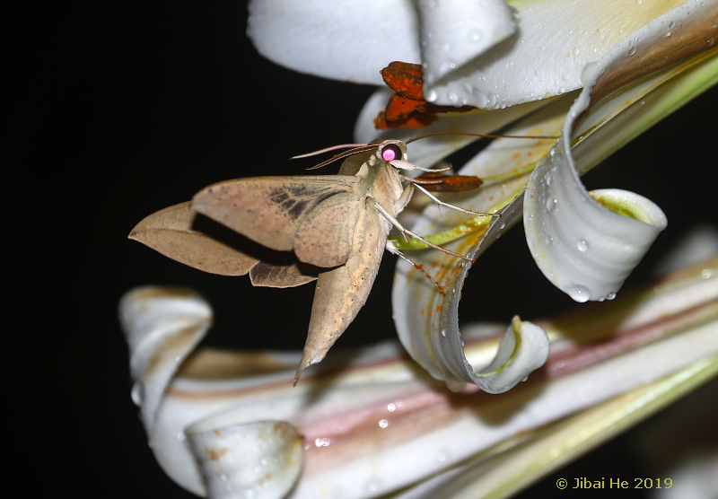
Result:
{"label": "moth's leftmost plain tan wing, partly shadowed by the dark-patched wing", "polygon": [[189,267],[222,276],[244,276],[258,263],[258,258],[242,250],[241,241],[234,241],[237,238],[217,240],[195,230],[196,223],[197,213],[189,203],[182,203],[147,216],[132,229],[129,238]]}

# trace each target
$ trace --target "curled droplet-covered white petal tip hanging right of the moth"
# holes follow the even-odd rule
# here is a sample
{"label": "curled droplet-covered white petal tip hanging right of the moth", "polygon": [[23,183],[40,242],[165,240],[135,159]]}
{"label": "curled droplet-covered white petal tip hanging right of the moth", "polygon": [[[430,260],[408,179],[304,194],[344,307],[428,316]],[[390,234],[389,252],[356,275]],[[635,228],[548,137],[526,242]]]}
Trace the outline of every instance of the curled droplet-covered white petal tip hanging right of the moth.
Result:
{"label": "curled droplet-covered white petal tip hanging right of the moth", "polygon": [[635,218],[614,213],[585,191],[568,156],[561,156],[554,154],[552,167],[539,167],[529,181],[524,225],[531,254],[544,276],[576,302],[613,299],[665,229],[666,216],[634,193],[594,191],[594,197],[632,208]]}

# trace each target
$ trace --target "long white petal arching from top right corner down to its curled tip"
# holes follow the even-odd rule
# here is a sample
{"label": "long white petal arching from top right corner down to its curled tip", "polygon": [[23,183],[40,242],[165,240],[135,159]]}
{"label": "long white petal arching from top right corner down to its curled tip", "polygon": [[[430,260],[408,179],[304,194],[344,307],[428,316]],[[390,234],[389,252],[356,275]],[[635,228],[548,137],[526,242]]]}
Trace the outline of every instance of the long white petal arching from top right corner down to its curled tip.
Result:
{"label": "long white petal arching from top right corner down to its curled tip", "polygon": [[[598,113],[604,117],[607,112],[626,109],[622,102],[631,99],[626,99],[623,92],[596,105],[597,99],[591,98],[594,87],[603,90],[616,80],[617,74],[627,71],[626,66],[650,66],[652,60],[660,58],[657,56],[675,53],[678,48],[685,50],[687,39],[696,34],[698,39],[703,39],[701,31],[714,29],[718,5],[706,9],[704,14],[710,11],[714,14],[713,21],[708,16],[706,22],[704,17],[688,16],[688,4],[691,2],[636,31],[591,66],[584,75],[583,91],[569,111],[556,148],[531,175],[528,196],[524,198],[524,226],[531,254],[544,276],[577,302],[615,297],[658,233],[666,227],[667,220],[658,206],[634,193],[603,189],[589,195],[585,191],[571,151],[572,137],[578,135],[574,133],[577,125],[574,121],[591,104],[603,107],[602,113],[600,110]],[[703,41],[688,48],[697,52],[709,47]],[[644,54],[644,60],[636,57],[637,53]],[[654,74],[629,93],[646,93],[669,75],[666,71]],[[595,116],[590,121],[595,124]],[[581,127],[586,129],[584,124]],[[608,127],[616,127],[616,124],[612,125],[609,120]],[[600,142],[598,137],[586,140],[594,146]],[[588,143],[582,144],[582,148],[587,146]]]}

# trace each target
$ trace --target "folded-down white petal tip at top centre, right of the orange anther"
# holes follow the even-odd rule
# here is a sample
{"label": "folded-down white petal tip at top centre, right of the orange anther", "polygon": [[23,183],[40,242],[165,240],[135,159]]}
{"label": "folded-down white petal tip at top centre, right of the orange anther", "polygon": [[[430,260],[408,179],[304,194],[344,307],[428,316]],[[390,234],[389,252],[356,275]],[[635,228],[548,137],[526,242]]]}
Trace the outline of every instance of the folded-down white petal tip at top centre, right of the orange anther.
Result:
{"label": "folded-down white petal tip at top centre, right of the orange anther", "polygon": [[[425,97],[430,102],[436,99],[431,92],[434,83],[515,31],[511,10],[503,0],[418,0],[416,10]],[[451,103],[461,106],[467,102]]]}

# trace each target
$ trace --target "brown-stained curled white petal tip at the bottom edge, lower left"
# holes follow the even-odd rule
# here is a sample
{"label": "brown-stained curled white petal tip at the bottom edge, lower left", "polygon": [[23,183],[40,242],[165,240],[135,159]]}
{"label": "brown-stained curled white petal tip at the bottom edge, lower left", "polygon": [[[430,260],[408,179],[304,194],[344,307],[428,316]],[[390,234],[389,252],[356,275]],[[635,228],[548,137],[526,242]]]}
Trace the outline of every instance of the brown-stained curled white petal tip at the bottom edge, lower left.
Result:
{"label": "brown-stained curled white petal tip at the bottom edge, lower left", "polygon": [[302,470],[303,439],[282,421],[222,427],[214,417],[187,432],[212,499],[279,499]]}

